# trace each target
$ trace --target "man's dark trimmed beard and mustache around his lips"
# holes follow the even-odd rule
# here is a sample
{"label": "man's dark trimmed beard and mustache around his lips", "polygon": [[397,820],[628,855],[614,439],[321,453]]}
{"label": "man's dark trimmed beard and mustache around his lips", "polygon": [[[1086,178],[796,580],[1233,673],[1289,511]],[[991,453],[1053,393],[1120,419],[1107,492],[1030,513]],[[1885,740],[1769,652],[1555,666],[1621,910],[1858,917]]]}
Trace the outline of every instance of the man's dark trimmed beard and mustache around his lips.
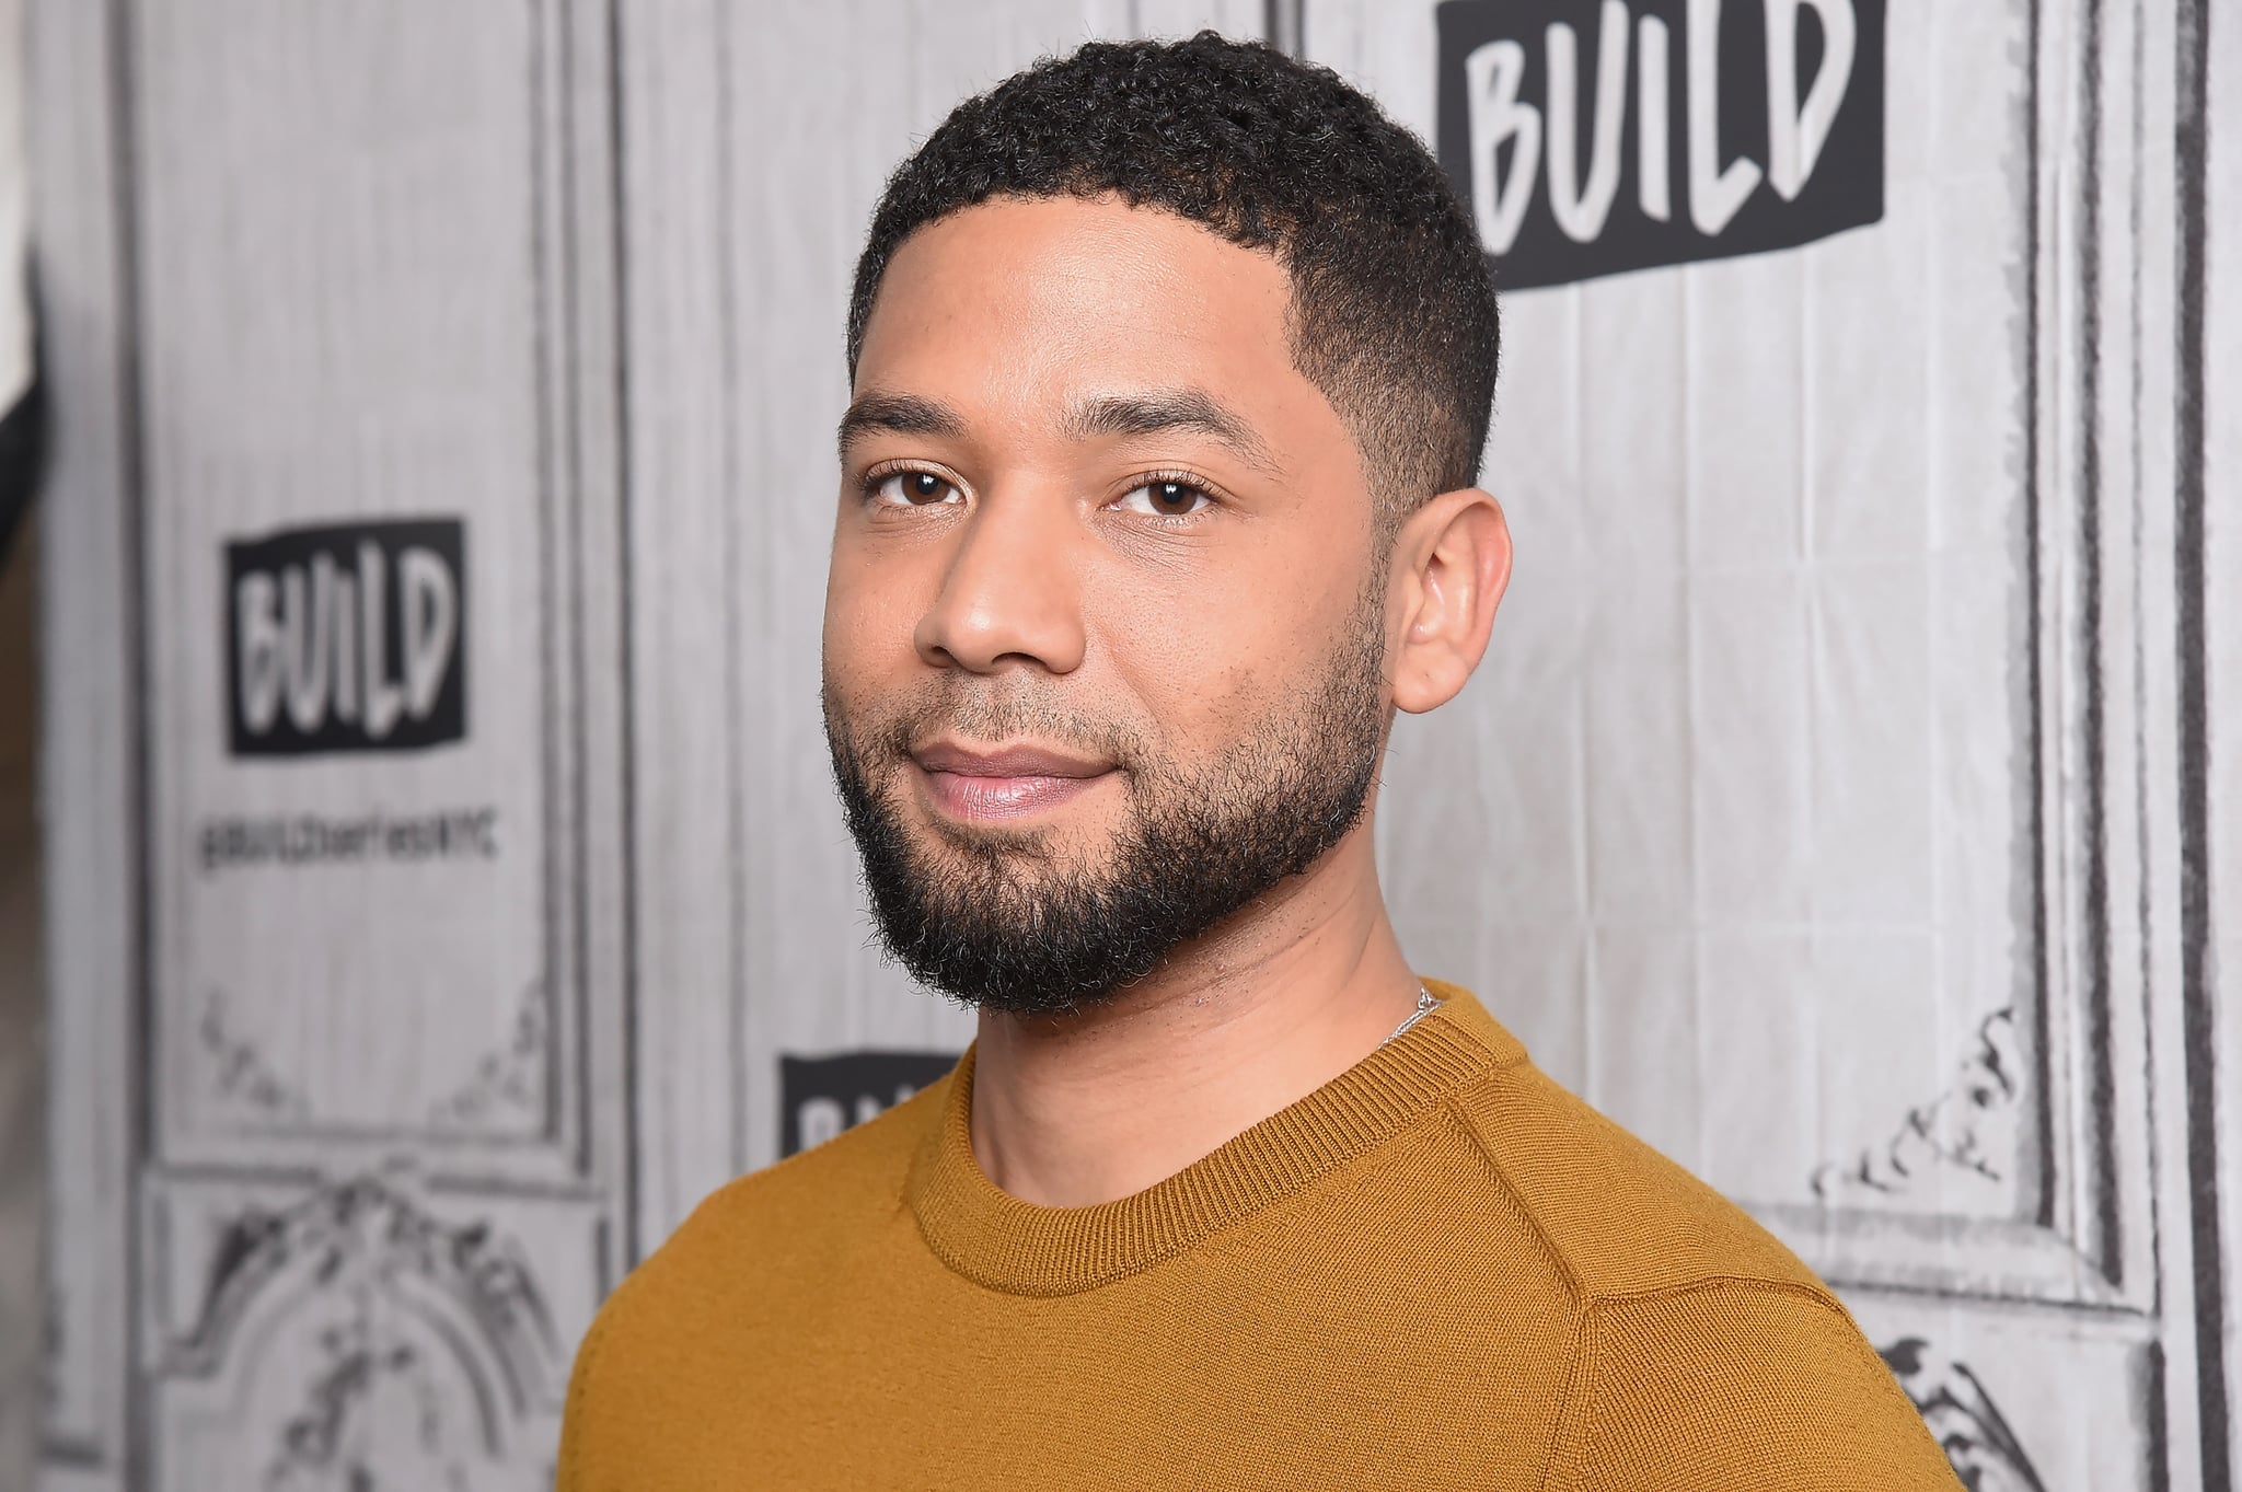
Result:
{"label": "man's dark trimmed beard and mustache around his lips", "polygon": [[[1291,703],[1208,766],[1186,771],[1143,735],[1047,697],[1040,674],[948,670],[877,719],[825,686],[825,742],[872,918],[921,983],[1009,1015],[1069,1015],[1137,983],[1182,943],[1298,876],[1354,829],[1386,746],[1383,598],[1365,594]],[[1040,829],[933,822],[921,845],[897,802],[912,742],[1029,737],[1117,766],[1123,822],[1103,858],[1063,856]]]}

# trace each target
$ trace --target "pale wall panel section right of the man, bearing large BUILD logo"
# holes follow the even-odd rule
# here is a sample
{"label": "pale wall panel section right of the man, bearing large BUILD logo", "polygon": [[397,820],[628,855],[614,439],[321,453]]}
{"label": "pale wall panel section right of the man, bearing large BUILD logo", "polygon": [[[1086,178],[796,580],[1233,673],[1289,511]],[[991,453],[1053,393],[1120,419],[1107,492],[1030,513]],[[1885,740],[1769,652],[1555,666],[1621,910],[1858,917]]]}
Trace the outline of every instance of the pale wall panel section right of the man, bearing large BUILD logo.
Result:
{"label": "pale wall panel section right of the man, bearing large BUILD logo", "polygon": [[2197,1407],[2150,1051],[2170,11],[1307,0],[1305,36],[1437,143],[1511,285],[1518,571],[1397,735],[1403,943],[1921,1382],[1966,1367],[1989,1485],[2161,1485]]}

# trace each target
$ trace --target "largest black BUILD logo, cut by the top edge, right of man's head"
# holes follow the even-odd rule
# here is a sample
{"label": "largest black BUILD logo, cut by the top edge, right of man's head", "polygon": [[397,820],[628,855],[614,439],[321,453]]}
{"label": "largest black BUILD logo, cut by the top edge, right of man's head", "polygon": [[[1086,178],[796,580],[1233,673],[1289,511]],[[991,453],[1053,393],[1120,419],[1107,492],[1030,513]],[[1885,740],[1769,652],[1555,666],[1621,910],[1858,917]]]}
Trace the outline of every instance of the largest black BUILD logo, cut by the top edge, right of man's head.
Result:
{"label": "largest black BUILD logo, cut by the top edge, right of man's head", "polygon": [[1446,0],[1439,164],[1498,289],[1883,217],[1883,0]]}

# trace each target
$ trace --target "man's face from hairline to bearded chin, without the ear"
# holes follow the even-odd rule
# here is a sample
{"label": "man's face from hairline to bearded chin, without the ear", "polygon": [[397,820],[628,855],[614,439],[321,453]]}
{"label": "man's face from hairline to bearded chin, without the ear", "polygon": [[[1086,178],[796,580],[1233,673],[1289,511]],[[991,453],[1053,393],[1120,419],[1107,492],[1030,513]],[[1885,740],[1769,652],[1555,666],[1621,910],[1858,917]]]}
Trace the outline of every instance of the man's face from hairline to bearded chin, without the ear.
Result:
{"label": "man's face from hairline to bearded chin, without the ear", "polygon": [[843,421],[825,724],[917,977],[1078,1008],[1361,822],[1383,565],[1269,253],[1112,199],[904,242]]}

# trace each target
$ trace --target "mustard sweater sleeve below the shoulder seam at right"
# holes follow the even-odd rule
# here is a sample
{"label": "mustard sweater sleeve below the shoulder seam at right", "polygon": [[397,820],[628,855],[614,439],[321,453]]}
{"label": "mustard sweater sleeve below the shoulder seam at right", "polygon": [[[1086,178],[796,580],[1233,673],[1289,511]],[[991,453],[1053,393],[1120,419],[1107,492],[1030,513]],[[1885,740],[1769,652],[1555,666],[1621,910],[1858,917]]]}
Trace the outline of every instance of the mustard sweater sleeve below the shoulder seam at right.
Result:
{"label": "mustard sweater sleeve below the shoulder seam at right", "polygon": [[1583,1322],[1551,1492],[1955,1492],[1953,1467],[1843,1306],[1715,1281]]}

